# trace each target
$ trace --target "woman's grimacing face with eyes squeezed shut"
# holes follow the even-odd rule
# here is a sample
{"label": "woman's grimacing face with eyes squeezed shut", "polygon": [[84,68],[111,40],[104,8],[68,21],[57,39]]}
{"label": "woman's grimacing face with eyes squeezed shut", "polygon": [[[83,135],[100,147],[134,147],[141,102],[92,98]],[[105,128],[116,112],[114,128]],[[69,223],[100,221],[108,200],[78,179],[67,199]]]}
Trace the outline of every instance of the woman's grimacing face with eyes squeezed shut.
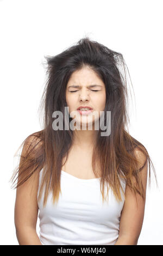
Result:
{"label": "woman's grimacing face with eyes squeezed shut", "polygon": [[[66,102],[70,117],[77,125],[95,124],[104,111],[106,102],[105,84],[95,71],[86,66],[72,73],[66,87]],[[79,107],[91,107],[90,111],[78,111]]]}

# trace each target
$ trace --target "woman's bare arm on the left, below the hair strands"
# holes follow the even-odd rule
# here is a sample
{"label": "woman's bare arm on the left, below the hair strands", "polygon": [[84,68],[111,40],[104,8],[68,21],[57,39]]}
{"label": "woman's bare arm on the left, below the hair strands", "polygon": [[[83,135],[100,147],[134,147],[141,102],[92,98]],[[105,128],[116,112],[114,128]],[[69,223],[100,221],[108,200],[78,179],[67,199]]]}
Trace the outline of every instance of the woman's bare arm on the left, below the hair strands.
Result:
{"label": "woman's bare arm on the left, below the hair strands", "polygon": [[[26,152],[24,145],[22,153]],[[39,170],[17,187],[15,200],[15,228],[20,245],[42,245],[36,233],[38,215],[37,189],[39,186]]]}

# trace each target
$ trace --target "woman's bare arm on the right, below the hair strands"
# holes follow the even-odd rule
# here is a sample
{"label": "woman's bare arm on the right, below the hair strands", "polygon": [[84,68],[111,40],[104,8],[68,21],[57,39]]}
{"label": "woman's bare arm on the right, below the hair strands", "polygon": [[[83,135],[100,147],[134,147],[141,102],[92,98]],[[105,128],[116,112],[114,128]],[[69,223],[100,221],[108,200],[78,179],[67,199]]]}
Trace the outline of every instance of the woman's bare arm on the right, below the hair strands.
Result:
{"label": "woman's bare arm on the right, below the hair strands", "polygon": [[[143,166],[145,163],[145,156],[140,151],[136,151],[137,160],[140,161]],[[148,162],[146,162],[145,166],[141,170],[141,180],[143,187],[146,192],[147,187],[147,172],[148,172]],[[133,178],[134,182],[135,179]],[[145,212],[145,200],[136,193],[136,198],[134,192],[131,192],[128,185],[126,185],[126,200],[123,205],[123,209],[121,212],[121,220],[120,220],[120,232],[118,236],[118,240],[115,245],[137,245],[137,241],[139,239],[139,235],[141,232],[143,217]]]}

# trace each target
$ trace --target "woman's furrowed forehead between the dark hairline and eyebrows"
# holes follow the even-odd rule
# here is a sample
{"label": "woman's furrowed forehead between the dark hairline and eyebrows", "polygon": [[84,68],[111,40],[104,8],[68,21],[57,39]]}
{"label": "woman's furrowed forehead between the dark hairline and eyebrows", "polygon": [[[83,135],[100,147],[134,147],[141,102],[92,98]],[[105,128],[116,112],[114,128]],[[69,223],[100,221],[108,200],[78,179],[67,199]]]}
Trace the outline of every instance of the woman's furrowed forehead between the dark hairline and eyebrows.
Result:
{"label": "woman's furrowed forehead between the dark hairline and eyebrows", "polygon": [[77,86],[90,86],[91,84],[99,84],[104,86],[101,77],[89,67],[76,70],[72,73],[67,86],[77,85]]}

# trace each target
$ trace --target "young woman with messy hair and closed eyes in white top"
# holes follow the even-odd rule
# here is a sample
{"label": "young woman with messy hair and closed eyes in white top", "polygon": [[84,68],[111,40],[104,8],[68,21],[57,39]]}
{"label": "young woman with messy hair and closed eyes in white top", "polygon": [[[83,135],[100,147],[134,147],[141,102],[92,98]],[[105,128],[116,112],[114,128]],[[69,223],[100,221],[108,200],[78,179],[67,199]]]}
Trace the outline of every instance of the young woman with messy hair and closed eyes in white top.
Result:
{"label": "young woman with messy hair and closed eyes in white top", "polygon": [[127,131],[123,56],[84,38],[47,63],[44,127],[23,141],[12,176],[17,240],[136,245],[152,161]]}

